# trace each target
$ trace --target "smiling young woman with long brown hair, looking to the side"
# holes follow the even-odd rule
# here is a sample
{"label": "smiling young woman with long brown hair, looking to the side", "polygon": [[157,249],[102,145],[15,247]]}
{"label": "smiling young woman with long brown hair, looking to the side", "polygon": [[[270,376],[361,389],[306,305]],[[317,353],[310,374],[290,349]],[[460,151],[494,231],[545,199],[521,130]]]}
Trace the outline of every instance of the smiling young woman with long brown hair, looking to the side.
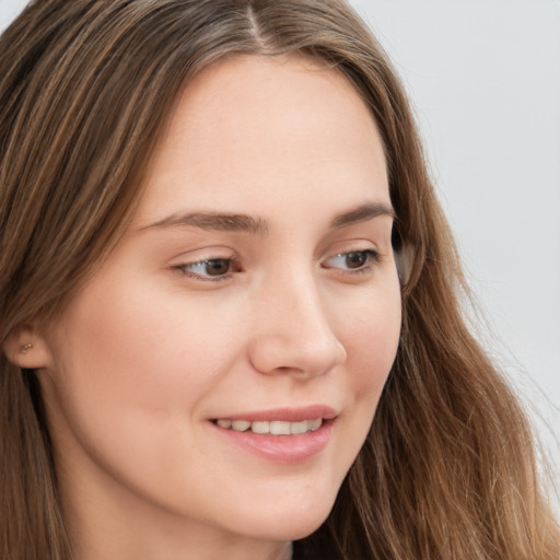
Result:
{"label": "smiling young woman with long brown hair, looking to the side", "polygon": [[0,51],[1,558],[558,557],[345,3],[34,2]]}

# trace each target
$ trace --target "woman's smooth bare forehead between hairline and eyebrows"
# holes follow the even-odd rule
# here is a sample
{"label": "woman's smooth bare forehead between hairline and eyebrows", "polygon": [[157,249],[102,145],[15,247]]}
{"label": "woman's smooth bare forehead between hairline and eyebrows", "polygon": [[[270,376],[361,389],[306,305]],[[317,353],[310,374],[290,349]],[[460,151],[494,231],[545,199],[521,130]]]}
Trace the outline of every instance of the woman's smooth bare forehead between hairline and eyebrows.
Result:
{"label": "woman's smooth bare forehead between hairline and eyebrows", "polygon": [[340,72],[300,56],[235,56],[201,71],[179,96],[147,177],[147,220],[185,197],[245,211],[270,191],[320,197],[327,183],[340,187],[341,205],[351,185],[377,188],[389,202],[371,112]]}

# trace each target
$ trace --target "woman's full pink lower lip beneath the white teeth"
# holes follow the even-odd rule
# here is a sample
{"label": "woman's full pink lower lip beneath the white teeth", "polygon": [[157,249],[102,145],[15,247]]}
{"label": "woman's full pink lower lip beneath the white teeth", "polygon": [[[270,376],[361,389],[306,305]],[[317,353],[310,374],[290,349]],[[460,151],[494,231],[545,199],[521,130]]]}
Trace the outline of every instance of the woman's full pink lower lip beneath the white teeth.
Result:
{"label": "woman's full pink lower lip beneath the white teeth", "polygon": [[229,441],[267,460],[295,465],[310,460],[326,447],[335,420],[323,420],[317,430],[294,435],[256,434],[250,430],[236,432],[213,422],[211,425]]}

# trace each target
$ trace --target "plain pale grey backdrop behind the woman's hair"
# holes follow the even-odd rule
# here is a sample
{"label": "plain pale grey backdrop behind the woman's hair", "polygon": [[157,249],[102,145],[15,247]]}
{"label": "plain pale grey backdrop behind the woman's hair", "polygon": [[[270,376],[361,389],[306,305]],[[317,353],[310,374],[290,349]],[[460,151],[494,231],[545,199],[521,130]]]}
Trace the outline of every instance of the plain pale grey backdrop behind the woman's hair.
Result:
{"label": "plain pale grey backdrop behind the woman's hair", "polygon": [[[560,486],[560,0],[351,3],[410,93],[479,338]],[[0,28],[24,4],[0,0]]]}

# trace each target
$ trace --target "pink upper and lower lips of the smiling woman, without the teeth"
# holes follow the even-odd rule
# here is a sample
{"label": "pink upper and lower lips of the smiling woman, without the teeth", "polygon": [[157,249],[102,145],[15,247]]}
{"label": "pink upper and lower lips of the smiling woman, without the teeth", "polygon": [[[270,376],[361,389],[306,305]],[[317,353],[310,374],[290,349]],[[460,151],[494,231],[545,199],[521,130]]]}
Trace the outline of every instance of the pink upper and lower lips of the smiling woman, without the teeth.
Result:
{"label": "pink upper and lower lips of the smiling woman, without the teeth", "polygon": [[[314,418],[323,418],[323,424],[318,430],[298,435],[256,434],[250,430],[236,432],[220,428],[214,422],[209,422],[219,435],[228,442],[257,455],[271,463],[295,465],[310,460],[320,453],[330,440],[336,422],[336,412],[330,407],[311,406],[305,408],[280,408],[276,410],[254,411],[226,417],[229,420],[281,420],[284,422],[301,422]],[[225,417],[224,417],[225,418]]]}

